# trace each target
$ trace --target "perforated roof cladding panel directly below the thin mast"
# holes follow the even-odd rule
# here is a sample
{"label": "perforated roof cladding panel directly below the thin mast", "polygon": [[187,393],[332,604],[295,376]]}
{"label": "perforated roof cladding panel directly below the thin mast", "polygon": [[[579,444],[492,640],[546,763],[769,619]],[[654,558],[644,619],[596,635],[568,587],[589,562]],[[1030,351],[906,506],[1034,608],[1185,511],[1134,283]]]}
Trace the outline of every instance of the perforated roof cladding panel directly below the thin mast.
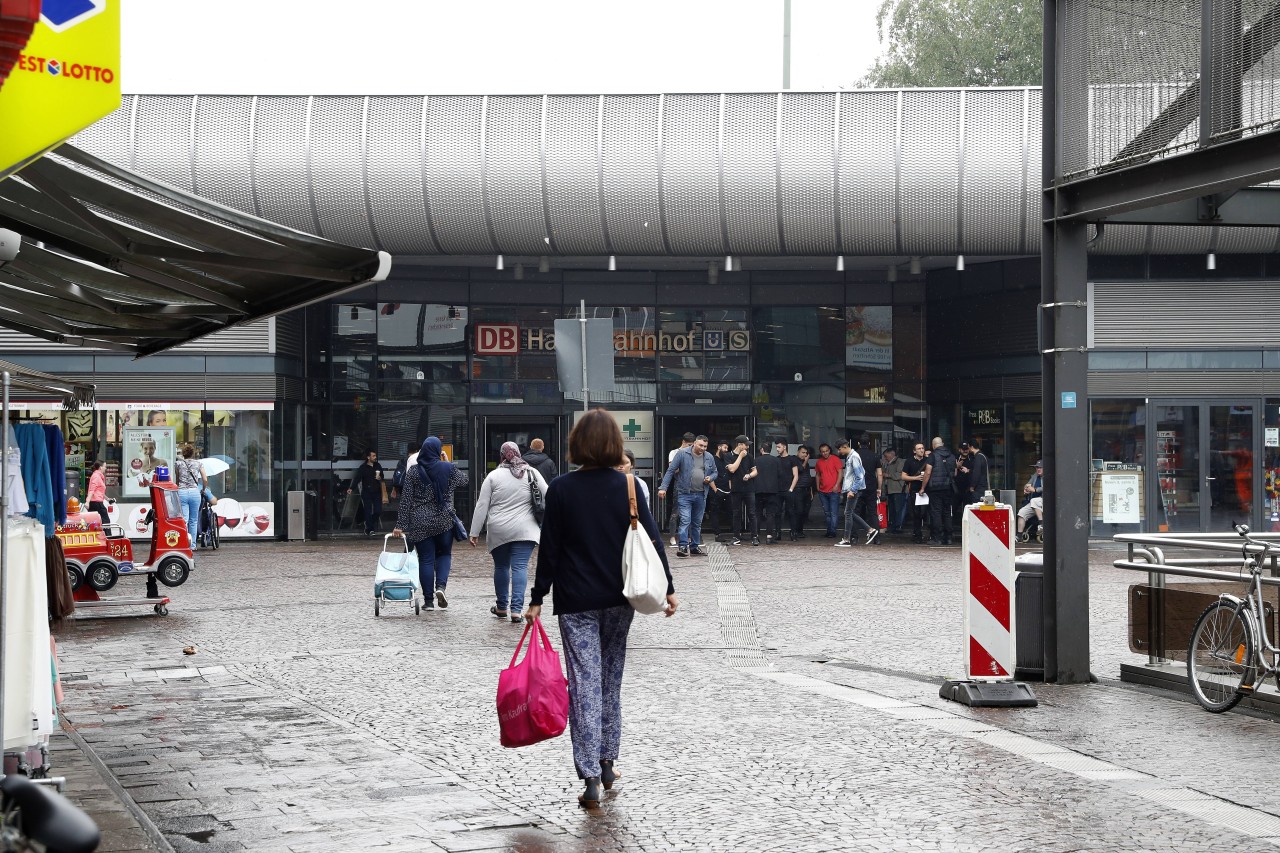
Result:
{"label": "perforated roof cladding panel directly below the thin mast", "polygon": [[788,254],[836,255],[837,93],[783,93],[778,133],[782,236]]}

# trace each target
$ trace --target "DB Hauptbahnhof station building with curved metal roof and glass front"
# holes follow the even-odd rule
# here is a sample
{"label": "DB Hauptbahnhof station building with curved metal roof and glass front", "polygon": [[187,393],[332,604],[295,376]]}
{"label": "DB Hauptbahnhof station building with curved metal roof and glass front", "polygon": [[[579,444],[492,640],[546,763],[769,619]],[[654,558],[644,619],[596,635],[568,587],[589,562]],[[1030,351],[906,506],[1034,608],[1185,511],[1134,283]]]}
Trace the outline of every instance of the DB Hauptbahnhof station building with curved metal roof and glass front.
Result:
{"label": "DB Hauptbahnhof station building with curved metal roof and glass front", "polygon": [[[97,386],[68,424],[119,464],[164,425],[274,512],[428,434],[471,471],[581,400],[554,321],[613,323],[641,474],[685,432],[817,447],[978,439],[1041,459],[1036,88],[584,96],[127,96],[73,145],[317,237],[387,280],[145,359],[0,330],[0,357]],[[1105,106],[1105,105],[1103,105]],[[1100,106],[1102,109],[1102,106]],[[1155,110],[1155,106],[1151,108]],[[1267,201],[1266,188],[1252,190]],[[1091,533],[1280,528],[1280,229],[1108,223],[1089,246]],[[47,401],[29,398],[32,412]],[[79,423],[79,419],[84,419]],[[462,507],[466,508],[466,507]]]}

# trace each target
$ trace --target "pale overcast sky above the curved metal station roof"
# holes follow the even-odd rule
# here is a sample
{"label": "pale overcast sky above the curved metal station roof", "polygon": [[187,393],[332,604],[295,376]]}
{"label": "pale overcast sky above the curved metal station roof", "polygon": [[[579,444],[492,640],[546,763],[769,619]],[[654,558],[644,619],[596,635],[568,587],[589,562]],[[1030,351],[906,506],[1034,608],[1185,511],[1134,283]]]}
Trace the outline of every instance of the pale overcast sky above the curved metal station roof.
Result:
{"label": "pale overcast sky above the curved metal station roof", "polygon": [[[119,1],[131,95],[782,88],[783,0]],[[855,88],[878,6],[792,0],[791,88]]]}

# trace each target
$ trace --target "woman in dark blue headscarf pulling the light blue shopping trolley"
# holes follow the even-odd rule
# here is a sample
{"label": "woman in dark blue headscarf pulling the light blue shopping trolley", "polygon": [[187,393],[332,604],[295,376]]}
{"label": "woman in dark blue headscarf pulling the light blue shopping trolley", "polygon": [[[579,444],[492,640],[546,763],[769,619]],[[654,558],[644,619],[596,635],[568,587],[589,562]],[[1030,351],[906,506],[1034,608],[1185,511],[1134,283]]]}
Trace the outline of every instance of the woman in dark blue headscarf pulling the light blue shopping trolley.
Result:
{"label": "woman in dark blue headscarf pulling the light blue shopping trolley", "polygon": [[[440,459],[440,439],[422,442],[417,464],[404,475],[399,514],[393,537],[404,537],[417,551],[417,573],[426,596],[426,610],[449,606],[444,587],[453,560],[453,491],[467,484],[467,475]],[[431,601],[431,592],[435,601]]]}

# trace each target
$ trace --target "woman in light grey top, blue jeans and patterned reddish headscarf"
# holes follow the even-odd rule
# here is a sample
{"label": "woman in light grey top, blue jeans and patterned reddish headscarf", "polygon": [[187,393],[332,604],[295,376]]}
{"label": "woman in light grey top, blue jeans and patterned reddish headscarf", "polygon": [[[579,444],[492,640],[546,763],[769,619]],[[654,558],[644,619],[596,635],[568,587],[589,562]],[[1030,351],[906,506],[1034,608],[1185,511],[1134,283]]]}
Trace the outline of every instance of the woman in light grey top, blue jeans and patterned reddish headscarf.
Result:
{"label": "woman in light grey top, blue jeans and patterned reddish headscarf", "polygon": [[529,489],[532,485],[545,500],[547,480],[525,462],[515,442],[504,442],[499,455],[502,462],[480,485],[480,500],[471,516],[471,547],[479,543],[480,530],[488,528],[485,544],[493,557],[493,588],[498,596],[498,603],[489,612],[518,622],[525,610],[529,557],[540,533]]}

